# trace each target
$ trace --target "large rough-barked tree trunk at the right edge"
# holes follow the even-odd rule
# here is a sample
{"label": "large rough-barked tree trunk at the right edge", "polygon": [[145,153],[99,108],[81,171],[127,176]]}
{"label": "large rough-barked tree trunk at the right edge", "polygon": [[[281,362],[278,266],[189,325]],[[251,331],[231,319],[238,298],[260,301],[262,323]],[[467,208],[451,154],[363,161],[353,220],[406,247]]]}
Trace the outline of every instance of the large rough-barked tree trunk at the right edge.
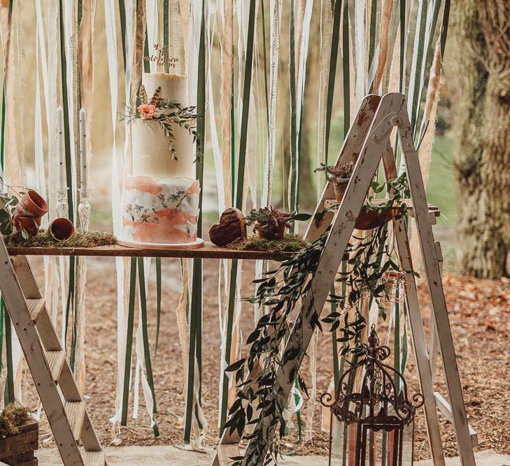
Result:
{"label": "large rough-barked tree trunk at the right edge", "polygon": [[460,272],[498,278],[510,252],[510,2],[452,2]]}

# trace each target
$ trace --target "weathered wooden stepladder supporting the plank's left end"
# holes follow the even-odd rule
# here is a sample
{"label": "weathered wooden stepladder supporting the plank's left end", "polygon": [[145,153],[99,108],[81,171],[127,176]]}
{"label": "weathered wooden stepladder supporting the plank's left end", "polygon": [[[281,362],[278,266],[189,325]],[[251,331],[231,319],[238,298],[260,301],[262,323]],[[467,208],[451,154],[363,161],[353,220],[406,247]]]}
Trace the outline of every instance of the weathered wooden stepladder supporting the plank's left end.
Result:
{"label": "weathered wooden stepladder supporting the plank's left end", "polygon": [[[106,456],[26,256],[0,240],[0,291],[65,466],[105,466]],[[78,447],[83,444],[84,452]]]}

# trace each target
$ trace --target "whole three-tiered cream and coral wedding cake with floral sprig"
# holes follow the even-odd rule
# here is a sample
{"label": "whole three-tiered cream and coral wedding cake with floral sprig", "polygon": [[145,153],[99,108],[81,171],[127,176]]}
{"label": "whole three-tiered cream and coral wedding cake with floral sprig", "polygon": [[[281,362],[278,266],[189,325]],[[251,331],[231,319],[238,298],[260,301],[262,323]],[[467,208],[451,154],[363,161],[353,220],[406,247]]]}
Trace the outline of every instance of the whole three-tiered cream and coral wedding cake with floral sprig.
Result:
{"label": "whole three-tiered cream and coral wedding cake with floral sprig", "polygon": [[169,117],[178,111],[169,104],[187,107],[187,80],[144,73],[142,85],[141,105],[132,120],[132,167],[125,178],[118,242],[158,249],[201,247],[193,136]]}

